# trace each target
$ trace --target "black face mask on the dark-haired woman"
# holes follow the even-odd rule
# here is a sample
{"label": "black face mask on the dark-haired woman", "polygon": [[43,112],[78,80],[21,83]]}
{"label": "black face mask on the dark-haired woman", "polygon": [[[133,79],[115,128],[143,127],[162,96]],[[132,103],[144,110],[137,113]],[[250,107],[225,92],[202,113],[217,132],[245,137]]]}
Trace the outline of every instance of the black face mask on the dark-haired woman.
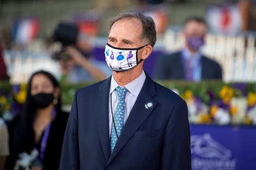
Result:
{"label": "black face mask on the dark-haired woman", "polygon": [[46,108],[53,101],[53,93],[38,93],[32,96],[36,108]]}

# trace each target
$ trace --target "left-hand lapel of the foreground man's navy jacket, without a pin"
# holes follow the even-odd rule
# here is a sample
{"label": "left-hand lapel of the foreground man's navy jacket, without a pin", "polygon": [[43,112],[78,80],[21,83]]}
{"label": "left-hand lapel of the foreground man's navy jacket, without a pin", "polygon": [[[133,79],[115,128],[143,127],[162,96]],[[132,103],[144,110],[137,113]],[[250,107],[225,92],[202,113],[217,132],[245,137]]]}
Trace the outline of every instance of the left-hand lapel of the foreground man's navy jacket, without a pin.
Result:
{"label": "left-hand lapel of the foreground man's navy jacket, without a pin", "polygon": [[[97,129],[100,135],[101,147],[105,156],[105,160],[109,159],[109,121],[108,121],[108,97],[109,88],[111,83],[111,77],[108,78],[99,87],[99,90],[95,92],[93,96],[93,108],[96,115]],[[100,103],[100,106],[99,106]]]}

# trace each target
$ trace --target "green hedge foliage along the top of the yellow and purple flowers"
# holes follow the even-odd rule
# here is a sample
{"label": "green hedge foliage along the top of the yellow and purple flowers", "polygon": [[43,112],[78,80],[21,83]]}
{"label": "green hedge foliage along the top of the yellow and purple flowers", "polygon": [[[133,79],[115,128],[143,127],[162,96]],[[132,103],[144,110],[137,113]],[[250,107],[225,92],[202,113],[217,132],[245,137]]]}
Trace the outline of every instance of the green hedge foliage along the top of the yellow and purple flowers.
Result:
{"label": "green hedge foliage along the top of the yellow and purple flowers", "polygon": [[[157,83],[167,87],[168,89],[176,89],[179,91],[179,94],[182,95],[186,90],[191,90],[195,96],[198,96],[202,99],[204,103],[209,102],[208,92],[211,91],[215,94],[215,99],[220,99],[218,93],[220,92],[223,85],[232,86],[233,84],[223,83],[222,81],[201,81],[199,83],[193,83],[188,81],[173,81],[173,80],[156,80]],[[66,84],[60,82],[62,90],[62,103],[63,104],[72,104],[75,92],[82,87],[86,87],[95,83],[94,81],[84,82],[80,84]],[[11,85],[8,81],[0,81],[0,92],[4,91],[5,93],[11,93]],[[246,84],[246,92],[256,92],[255,83]],[[243,96],[241,90],[234,89],[234,96],[240,97]]]}

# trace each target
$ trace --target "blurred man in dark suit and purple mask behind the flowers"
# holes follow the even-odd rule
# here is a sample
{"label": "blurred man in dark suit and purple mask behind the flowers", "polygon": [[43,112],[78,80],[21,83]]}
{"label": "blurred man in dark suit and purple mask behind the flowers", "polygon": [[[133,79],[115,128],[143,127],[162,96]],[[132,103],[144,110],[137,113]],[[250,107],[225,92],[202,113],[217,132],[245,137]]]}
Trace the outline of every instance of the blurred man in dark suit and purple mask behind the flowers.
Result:
{"label": "blurred man in dark suit and purple mask behind the flowers", "polygon": [[160,56],[155,69],[155,78],[188,81],[221,80],[221,66],[200,53],[206,32],[207,26],[203,18],[188,18],[182,31],[185,47],[179,52]]}

